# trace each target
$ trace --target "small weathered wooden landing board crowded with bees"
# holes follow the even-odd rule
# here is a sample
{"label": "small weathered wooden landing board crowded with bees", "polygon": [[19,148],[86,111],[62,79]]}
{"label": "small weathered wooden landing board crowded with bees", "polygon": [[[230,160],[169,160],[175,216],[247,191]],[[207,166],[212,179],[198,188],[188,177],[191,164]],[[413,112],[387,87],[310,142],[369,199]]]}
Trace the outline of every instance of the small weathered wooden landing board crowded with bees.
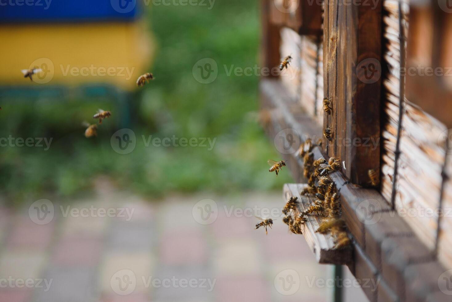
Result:
{"label": "small weathered wooden landing board crowded with bees", "polygon": [[[284,184],[283,198],[287,199],[291,196],[298,197],[300,201],[299,211],[304,211],[313,204],[315,197],[301,196],[300,192],[306,188],[307,184]],[[307,222],[301,225],[301,231],[305,236],[306,242],[315,255],[317,262],[321,264],[349,264],[352,262],[352,249],[344,248],[334,250],[334,241],[330,234],[316,233],[323,220],[321,217],[306,216]]]}

